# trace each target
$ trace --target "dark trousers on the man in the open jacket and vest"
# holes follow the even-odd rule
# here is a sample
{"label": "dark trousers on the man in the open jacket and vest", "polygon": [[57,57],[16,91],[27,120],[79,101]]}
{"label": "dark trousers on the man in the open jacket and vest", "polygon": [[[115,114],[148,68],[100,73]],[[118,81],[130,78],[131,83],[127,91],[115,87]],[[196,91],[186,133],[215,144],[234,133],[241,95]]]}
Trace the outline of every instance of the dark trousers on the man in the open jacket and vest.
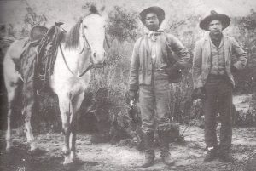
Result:
{"label": "dark trousers on the man in the open jacket and vest", "polygon": [[[229,151],[232,140],[232,84],[228,77],[210,75],[204,86],[205,142],[207,147]],[[216,134],[216,117],[220,117],[219,145]]]}

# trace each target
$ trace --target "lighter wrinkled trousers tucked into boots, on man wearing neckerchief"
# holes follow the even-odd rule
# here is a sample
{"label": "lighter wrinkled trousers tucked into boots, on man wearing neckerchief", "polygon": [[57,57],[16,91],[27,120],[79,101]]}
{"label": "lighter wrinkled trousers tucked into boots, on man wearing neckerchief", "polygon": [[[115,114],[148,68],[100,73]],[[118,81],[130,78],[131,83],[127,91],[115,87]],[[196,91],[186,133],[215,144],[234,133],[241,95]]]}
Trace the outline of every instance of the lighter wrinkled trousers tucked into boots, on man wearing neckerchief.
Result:
{"label": "lighter wrinkled trousers tucked into boots, on man wearing neckerchief", "polygon": [[143,133],[169,131],[170,123],[170,85],[167,79],[154,79],[151,85],[139,86],[139,105],[142,115]]}

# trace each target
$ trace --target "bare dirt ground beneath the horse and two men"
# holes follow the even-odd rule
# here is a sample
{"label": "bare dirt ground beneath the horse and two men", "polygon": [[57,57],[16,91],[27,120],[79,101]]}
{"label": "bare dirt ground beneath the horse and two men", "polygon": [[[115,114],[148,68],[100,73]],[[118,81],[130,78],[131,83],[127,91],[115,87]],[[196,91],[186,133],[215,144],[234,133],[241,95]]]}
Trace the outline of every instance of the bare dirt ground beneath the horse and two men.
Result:
{"label": "bare dirt ground beneath the horse and two men", "polygon": [[[183,130],[181,126],[181,130]],[[219,126],[218,126],[219,131]],[[2,171],[100,171],[100,170],[240,170],[249,154],[256,150],[256,128],[234,128],[232,154],[235,162],[224,163],[218,159],[203,162],[203,129],[190,127],[184,134],[184,143],[170,144],[175,165],[166,167],[160,161],[160,151],[156,150],[156,162],[153,167],[140,168],[143,152],[121,145],[92,144],[90,134],[79,134],[77,140],[78,160],[73,166],[62,166],[62,134],[35,134],[40,152],[31,154],[26,144],[26,136],[20,130],[14,130],[14,150],[4,151],[4,132],[0,133],[0,170]]]}

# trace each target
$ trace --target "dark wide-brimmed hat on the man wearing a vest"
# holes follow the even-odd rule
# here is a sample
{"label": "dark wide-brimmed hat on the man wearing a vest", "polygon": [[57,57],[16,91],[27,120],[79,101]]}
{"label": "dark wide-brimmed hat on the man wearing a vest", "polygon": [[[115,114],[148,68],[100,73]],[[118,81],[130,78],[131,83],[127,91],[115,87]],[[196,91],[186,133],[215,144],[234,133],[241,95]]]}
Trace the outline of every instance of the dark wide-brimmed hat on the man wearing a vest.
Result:
{"label": "dark wide-brimmed hat on the man wearing a vest", "polygon": [[199,24],[200,28],[205,31],[209,31],[208,27],[212,20],[220,20],[223,26],[223,30],[230,26],[230,17],[228,15],[218,14],[216,11],[212,10],[210,15],[201,20]]}

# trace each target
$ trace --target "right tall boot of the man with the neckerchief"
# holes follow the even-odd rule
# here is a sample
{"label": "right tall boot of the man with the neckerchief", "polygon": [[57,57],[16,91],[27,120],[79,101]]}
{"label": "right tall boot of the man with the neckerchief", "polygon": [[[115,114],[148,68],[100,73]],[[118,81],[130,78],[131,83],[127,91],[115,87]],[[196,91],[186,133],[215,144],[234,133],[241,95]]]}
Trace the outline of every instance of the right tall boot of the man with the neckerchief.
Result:
{"label": "right tall boot of the man with the neckerchief", "polygon": [[158,135],[162,161],[166,165],[171,166],[174,164],[174,161],[171,159],[171,154],[169,152],[169,131],[158,131]]}

